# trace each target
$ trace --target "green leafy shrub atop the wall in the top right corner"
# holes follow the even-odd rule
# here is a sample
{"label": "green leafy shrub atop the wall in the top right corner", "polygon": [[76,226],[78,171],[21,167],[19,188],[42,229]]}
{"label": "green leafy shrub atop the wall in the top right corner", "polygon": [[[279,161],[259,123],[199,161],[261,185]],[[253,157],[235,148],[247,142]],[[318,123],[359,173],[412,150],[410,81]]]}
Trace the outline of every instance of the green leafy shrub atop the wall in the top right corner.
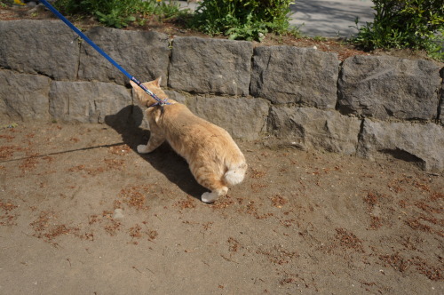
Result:
{"label": "green leafy shrub atop the wall in the top right corner", "polygon": [[444,5],[442,0],[373,0],[376,11],[353,36],[353,44],[364,50],[409,48],[424,50],[444,59]]}

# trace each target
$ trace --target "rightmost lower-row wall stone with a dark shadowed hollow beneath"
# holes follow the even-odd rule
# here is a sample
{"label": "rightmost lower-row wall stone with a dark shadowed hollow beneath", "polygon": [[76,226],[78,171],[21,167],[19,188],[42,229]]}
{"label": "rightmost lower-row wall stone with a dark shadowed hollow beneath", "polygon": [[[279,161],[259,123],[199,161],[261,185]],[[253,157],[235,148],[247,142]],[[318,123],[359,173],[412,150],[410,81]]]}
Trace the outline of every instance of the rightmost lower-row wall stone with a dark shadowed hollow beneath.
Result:
{"label": "rightmost lower-row wall stone with a dark shadowed hollow beneath", "polygon": [[437,124],[364,120],[357,155],[392,155],[418,163],[426,171],[444,170],[444,128]]}

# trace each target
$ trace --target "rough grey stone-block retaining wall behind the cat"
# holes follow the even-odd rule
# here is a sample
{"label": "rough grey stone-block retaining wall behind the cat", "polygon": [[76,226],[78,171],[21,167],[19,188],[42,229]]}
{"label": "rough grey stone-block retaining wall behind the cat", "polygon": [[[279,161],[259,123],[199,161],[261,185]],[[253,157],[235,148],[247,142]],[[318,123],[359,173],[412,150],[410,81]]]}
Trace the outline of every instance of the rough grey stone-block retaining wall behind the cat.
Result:
{"label": "rough grey stone-block retaining wall behind the cat", "polygon": [[[139,80],[234,138],[273,140],[444,171],[443,64],[292,46],[92,28]],[[132,106],[128,79],[59,20],[0,22],[0,122],[103,123]],[[130,107],[127,116],[140,114]],[[139,120],[140,121],[140,120]]]}

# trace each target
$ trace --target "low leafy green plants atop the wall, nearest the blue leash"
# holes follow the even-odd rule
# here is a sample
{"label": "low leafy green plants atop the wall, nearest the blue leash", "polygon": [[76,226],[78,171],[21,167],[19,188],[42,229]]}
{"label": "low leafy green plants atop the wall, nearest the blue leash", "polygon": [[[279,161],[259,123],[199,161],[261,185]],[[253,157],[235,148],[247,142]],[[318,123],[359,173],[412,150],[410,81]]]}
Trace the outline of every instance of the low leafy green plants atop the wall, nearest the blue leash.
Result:
{"label": "low leafy green plants atop the wall, nearest the blue leash", "polygon": [[66,14],[95,15],[106,26],[115,28],[128,26],[136,20],[136,13],[169,18],[179,12],[179,4],[157,0],[57,0],[54,5]]}

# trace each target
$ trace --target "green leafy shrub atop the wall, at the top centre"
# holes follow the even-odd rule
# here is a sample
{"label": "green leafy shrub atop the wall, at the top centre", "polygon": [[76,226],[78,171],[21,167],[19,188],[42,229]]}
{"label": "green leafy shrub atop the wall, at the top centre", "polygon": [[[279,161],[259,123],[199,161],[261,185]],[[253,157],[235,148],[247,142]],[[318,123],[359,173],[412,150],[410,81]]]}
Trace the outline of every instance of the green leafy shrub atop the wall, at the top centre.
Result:
{"label": "green leafy shrub atop the wall, at the top centre", "polygon": [[191,26],[210,35],[260,40],[267,32],[288,30],[289,4],[291,0],[203,0]]}

